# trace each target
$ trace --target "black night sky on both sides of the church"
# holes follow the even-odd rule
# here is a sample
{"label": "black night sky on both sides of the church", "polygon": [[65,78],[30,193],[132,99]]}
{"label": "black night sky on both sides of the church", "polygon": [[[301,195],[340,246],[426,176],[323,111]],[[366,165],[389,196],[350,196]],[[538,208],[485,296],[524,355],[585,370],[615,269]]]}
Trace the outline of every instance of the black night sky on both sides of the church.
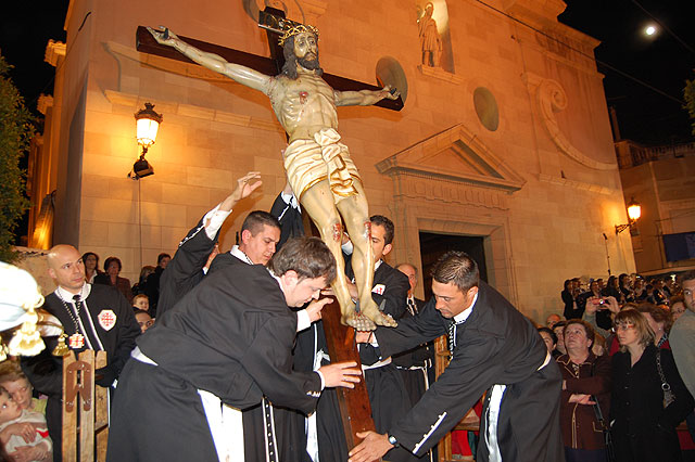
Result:
{"label": "black night sky on both sides of the church", "polygon": [[[598,70],[606,76],[606,99],[617,110],[622,138],[645,144],[693,141],[691,121],[682,108],[685,79],[695,77],[695,27],[683,11],[685,2],[566,2],[567,10],[559,21],[602,41],[595,50]],[[15,12],[5,12],[0,17],[2,55],[15,66],[11,77],[33,111],[41,92],[52,93],[54,69],[43,62],[43,52],[50,38],[65,40],[63,21],[67,5],[68,0],[15,2]],[[645,38],[642,29],[654,22],[647,12],[678,38],[664,29],[652,39]]]}

